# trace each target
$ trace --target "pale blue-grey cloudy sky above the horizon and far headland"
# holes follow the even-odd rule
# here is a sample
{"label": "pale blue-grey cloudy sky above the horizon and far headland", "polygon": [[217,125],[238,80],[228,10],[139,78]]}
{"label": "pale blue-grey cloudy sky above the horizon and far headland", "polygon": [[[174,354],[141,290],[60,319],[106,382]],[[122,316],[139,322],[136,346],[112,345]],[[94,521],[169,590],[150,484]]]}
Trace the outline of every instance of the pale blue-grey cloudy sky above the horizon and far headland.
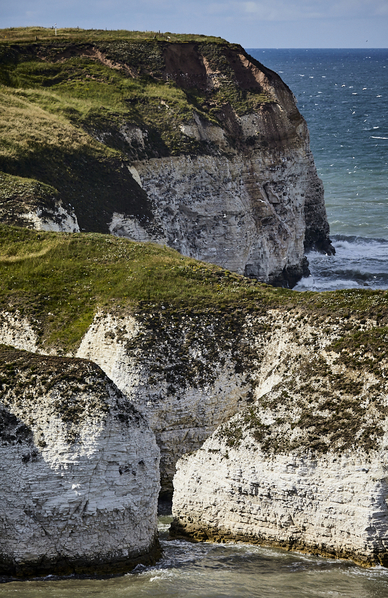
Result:
{"label": "pale blue-grey cloudy sky above the horizon and far headland", "polygon": [[0,22],[203,33],[245,48],[388,47],[388,0],[0,0]]}

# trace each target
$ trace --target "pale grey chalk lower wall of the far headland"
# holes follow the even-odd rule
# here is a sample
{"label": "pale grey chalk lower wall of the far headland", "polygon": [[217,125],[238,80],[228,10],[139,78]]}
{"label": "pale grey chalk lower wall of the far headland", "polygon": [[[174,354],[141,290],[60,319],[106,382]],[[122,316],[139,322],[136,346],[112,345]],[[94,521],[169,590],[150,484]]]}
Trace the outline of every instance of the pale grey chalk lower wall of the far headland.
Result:
{"label": "pale grey chalk lower wall of the far headland", "polygon": [[[153,159],[135,168],[163,231],[148,240],[275,285],[292,287],[308,272],[304,198],[312,179],[321,190],[308,152]],[[147,239],[124,215],[111,232]]]}

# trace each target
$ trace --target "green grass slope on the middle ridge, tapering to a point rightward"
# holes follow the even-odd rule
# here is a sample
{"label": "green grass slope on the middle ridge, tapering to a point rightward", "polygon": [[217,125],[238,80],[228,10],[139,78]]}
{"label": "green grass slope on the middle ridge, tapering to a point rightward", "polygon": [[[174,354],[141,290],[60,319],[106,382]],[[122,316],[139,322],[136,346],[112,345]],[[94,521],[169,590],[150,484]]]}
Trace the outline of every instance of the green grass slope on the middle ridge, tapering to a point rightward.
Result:
{"label": "green grass slope on the middle ridge, tapering to a point rightward", "polygon": [[46,344],[65,347],[80,341],[100,308],[217,311],[283,291],[151,243],[5,226],[0,271],[1,308],[38,318]]}

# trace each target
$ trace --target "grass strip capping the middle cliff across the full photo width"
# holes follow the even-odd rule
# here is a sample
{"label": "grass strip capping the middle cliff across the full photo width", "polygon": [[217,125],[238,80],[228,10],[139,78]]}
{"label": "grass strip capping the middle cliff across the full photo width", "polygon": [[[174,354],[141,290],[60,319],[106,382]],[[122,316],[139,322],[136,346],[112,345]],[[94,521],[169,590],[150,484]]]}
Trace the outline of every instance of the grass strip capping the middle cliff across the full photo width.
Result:
{"label": "grass strip capping the middle cliff across the full photo width", "polygon": [[[385,291],[297,293],[150,243],[0,225],[0,309],[35,320],[46,347],[76,347],[100,308],[119,314],[163,311],[167,318],[213,315],[222,326],[230,320],[237,327],[248,313],[279,308],[299,314],[301,325],[303,318],[316,324],[329,316],[333,325],[341,320],[352,331],[354,318],[386,325],[387,305]],[[367,333],[360,335],[358,346]]]}

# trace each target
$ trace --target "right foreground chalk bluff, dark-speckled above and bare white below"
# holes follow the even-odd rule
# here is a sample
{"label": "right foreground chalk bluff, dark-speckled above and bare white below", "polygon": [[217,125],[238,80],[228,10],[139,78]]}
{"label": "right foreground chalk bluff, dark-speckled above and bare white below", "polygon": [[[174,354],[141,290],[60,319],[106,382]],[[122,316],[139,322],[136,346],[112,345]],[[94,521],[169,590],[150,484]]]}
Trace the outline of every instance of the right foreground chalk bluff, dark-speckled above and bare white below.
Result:
{"label": "right foreground chalk bluff, dark-speckled above and bare white below", "polygon": [[178,461],[173,535],[388,566],[387,329],[369,325],[279,331],[255,403]]}

